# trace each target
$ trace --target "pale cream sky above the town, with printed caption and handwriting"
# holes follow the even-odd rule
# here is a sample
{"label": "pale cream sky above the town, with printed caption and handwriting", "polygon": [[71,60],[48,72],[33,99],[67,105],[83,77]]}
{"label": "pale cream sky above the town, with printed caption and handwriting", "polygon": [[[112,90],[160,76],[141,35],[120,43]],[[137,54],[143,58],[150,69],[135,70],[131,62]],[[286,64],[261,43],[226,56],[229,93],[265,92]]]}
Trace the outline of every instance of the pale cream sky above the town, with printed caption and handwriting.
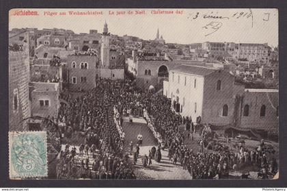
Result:
{"label": "pale cream sky above the town, with printed caption and handwriting", "polygon": [[[278,12],[276,9],[22,9],[38,11],[38,16],[16,16],[10,10],[9,29],[62,28],[75,33],[88,33],[90,29],[102,32],[107,22],[109,32],[123,36],[137,36],[143,40],[156,37],[159,28],[165,42],[191,44],[196,42],[242,42],[278,45]],[[152,14],[152,11],[169,14]],[[178,10],[178,12],[176,12]],[[98,15],[72,15],[74,12],[102,12]],[[116,15],[116,12],[124,14]],[[128,14],[128,11],[133,14]],[[144,11],[145,14],[135,14]],[[170,14],[170,12],[173,12]],[[57,12],[57,15],[44,15]],[[59,15],[66,12],[66,15]],[[114,12],[114,14],[110,14]],[[204,18],[205,17],[205,18]],[[210,18],[213,17],[213,18]],[[214,18],[217,17],[217,18]]]}

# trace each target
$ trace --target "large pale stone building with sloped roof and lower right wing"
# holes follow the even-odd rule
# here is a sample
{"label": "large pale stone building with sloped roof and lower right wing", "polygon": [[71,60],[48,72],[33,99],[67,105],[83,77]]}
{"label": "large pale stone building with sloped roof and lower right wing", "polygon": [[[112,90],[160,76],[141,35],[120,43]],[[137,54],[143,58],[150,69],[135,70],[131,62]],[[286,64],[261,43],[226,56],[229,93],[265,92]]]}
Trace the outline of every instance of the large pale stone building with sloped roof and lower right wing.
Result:
{"label": "large pale stone building with sloped roof and lower right wing", "polygon": [[[277,129],[278,90],[245,89],[221,68],[178,66],[163,81],[176,112],[193,122],[251,129]],[[245,106],[247,105],[247,106]]]}

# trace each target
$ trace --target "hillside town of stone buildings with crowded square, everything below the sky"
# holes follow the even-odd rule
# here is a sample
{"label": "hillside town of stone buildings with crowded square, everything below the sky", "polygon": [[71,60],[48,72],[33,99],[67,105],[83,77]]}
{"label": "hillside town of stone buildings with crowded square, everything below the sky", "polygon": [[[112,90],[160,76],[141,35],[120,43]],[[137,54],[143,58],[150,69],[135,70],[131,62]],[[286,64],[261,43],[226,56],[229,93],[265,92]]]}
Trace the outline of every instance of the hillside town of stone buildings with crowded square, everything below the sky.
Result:
{"label": "hillside town of stone buildings with crowded square, everything below the sky", "polygon": [[49,179],[273,179],[278,47],[102,25],[9,31],[9,129],[47,132]]}

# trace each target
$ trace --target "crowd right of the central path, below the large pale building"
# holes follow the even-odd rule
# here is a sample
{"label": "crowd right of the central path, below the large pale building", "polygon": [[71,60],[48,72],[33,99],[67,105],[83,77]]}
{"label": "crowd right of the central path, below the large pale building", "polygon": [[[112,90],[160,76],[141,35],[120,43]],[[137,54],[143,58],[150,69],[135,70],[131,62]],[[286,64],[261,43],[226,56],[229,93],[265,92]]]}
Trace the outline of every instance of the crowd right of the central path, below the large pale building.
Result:
{"label": "crowd right of the central path, below the large pale building", "polygon": [[[144,103],[150,103],[146,105],[146,108],[152,116],[154,129],[161,134],[163,145],[168,148],[169,159],[174,164],[187,169],[193,179],[229,178],[230,170],[243,170],[245,168],[259,169],[258,178],[262,179],[267,179],[277,173],[277,161],[274,153],[267,149],[264,141],[260,142],[254,151],[241,146],[238,152],[223,149],[218,150],[219,152],[208,153],[206,152],[208,145],[204,144],[204,138],[208,137],[208,132],[201,129],[198,132],[202,136],[198,142],[200,152],[194,152],[193,149],[184,144],[186,138],[184,133],[178,129],[179,125],[185,123],[185,127],[191,127],[189,131],[195,131],[191,118],[182,118],[170,110],[171,101],[163,95],[150,94],[148,98]],[[269,154],[273,157],[267,158]]]}

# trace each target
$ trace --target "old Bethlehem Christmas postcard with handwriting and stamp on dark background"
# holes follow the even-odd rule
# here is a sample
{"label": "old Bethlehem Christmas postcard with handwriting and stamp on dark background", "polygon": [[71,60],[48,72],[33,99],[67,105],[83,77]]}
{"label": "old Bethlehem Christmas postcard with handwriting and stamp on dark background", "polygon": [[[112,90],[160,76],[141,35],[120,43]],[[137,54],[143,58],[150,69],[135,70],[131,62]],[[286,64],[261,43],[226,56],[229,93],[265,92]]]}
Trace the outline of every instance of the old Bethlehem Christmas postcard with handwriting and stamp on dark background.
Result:
{"label": "old Bethlehem Christmas postcard with handwriting and stamp on dark background", "polygon": [[9,12],[9,178],[277,179],[278,10]]}

